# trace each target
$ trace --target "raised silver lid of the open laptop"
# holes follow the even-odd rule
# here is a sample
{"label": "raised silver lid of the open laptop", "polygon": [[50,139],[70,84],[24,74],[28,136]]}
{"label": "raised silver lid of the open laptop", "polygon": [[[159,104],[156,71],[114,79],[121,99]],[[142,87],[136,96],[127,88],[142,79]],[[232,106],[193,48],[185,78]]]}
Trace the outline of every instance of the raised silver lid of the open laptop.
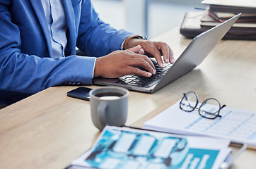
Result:
{"label": "raised silver lid of the open laptop", "polygon": [[241,13],[194,37],[185,51],[182,52],[177,61],[175,61],[170,70],[168,70],[151,92],[156,92],[156,90],[185,75],[202,63],[204,58],[214,49],[214,46],[218,44],[235,21],[238,20],[240,15]]}

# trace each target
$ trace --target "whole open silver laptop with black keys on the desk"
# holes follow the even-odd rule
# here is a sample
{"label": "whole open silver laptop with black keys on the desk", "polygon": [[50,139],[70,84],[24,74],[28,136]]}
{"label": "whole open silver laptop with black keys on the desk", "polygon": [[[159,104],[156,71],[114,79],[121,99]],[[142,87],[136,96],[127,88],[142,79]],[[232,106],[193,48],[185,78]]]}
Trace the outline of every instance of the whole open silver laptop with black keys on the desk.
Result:
{"label": "whole open silver laptop with black keys on the desk", "polygon": [[93,79],[93,84],[119,86],[138,92],[156,92],[201,64],[210,51],[214,49],[214,46],[226,35],[226,32],[228,32],[235,21],[238,20],[240,15],[241,13],[194,37],[173,65],[165,63],[164,68],[160,68],[156,60],[152,59],[156,66],[156,75],[151,77],[125,75],[113,79],[96,77]]}

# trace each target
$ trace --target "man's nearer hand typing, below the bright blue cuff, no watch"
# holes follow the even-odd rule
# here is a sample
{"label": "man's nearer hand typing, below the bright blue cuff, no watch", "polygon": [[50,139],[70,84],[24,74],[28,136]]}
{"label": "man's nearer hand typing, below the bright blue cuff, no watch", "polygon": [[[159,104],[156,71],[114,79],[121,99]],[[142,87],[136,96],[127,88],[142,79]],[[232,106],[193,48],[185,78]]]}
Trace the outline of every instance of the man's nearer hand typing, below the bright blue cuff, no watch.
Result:
{"label": "man's nearer hand typing, below the bright blue cuff, no watch", "polygon": [[[147,71],[136,67],[143,67]],[[150,77],[156,73],[150,58],[144,55],[141,46],[135,46],[124,51],[113,51],[107,56],[96,59],[94,77],[116,78],[123,75],[141,75]]]}

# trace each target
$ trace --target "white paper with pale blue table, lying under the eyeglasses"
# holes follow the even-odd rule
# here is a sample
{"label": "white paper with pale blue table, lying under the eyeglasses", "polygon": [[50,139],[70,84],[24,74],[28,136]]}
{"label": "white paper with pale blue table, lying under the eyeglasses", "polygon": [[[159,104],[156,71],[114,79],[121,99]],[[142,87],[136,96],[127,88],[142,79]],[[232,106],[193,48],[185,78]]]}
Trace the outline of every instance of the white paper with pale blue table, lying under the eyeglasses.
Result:
{"label": "white paper with pale blue table, lying under the eyeglasses", "polygon": [[203,118],[198,111],[180,110],[180,101],[151,120],[144,128],[177,134],[204,135],[229,139],[235,143],[256,146],[256,112],[225,107],[221,118]]}

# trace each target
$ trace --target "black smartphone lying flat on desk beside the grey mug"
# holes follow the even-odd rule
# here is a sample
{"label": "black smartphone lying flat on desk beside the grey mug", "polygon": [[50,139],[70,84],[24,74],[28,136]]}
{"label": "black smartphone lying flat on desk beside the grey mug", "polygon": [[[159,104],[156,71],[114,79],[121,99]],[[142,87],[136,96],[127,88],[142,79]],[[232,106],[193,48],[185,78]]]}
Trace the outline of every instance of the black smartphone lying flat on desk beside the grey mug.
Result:
{"label": "black smartphone lying flat on desk beside the grey mug", "polygon": [[90,101],[89,92],[91,91],[88,87],[78,87],[66,93],[67,96],[74,97],[76,99],[83,99]]}

